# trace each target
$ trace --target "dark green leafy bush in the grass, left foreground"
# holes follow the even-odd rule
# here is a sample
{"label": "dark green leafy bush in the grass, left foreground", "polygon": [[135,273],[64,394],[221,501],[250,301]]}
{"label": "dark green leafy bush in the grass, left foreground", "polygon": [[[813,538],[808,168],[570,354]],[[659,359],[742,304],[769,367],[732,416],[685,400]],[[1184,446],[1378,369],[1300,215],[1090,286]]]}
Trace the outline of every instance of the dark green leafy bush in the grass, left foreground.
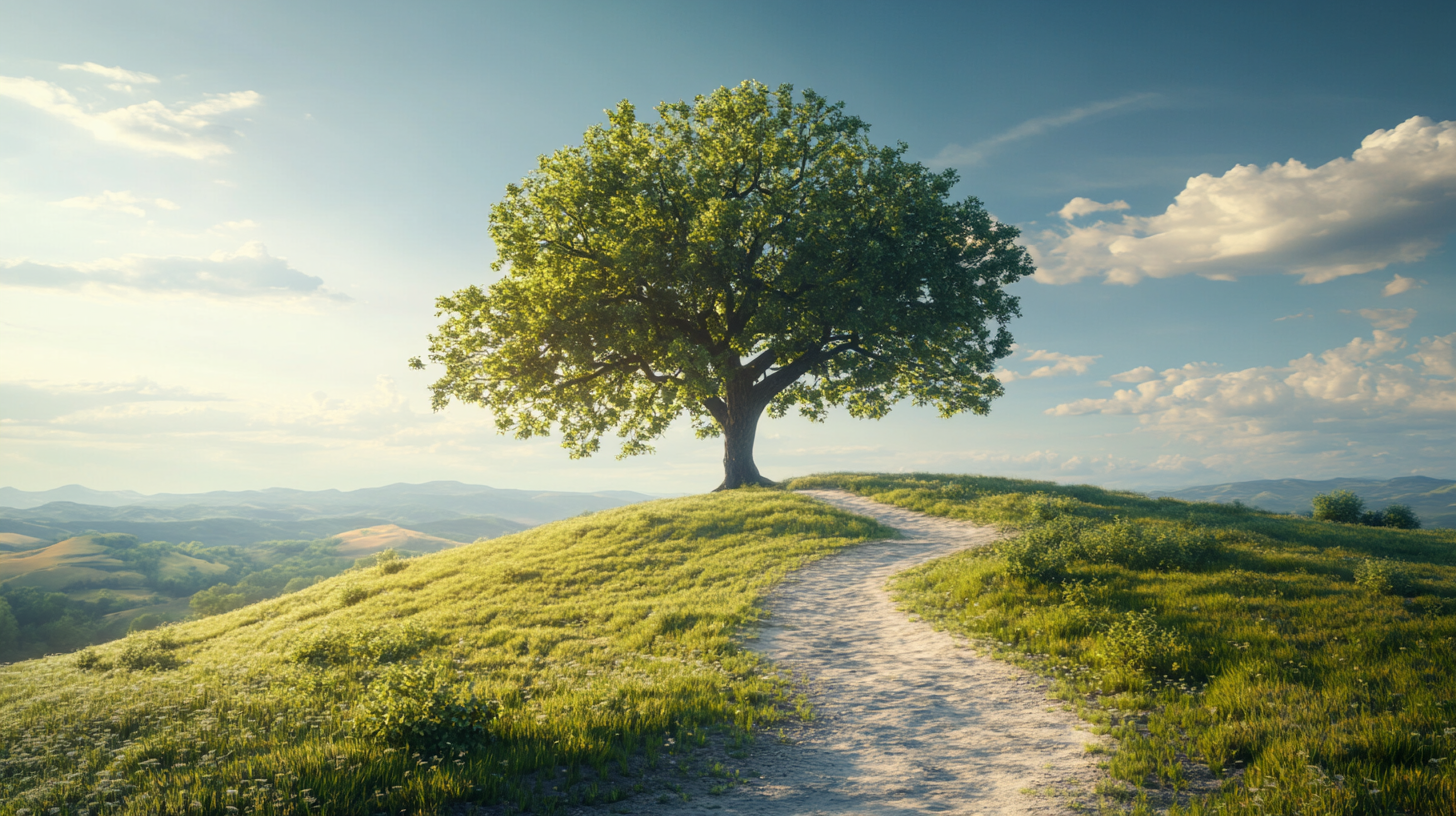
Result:
{"label": "dark green leafy bush in the grass, left foreground", "polygon": [[430,750],[470,748],[489,740],[496,701],[475,697],[447,663],[393,664],[370,683],[354,727],[392,746]]}

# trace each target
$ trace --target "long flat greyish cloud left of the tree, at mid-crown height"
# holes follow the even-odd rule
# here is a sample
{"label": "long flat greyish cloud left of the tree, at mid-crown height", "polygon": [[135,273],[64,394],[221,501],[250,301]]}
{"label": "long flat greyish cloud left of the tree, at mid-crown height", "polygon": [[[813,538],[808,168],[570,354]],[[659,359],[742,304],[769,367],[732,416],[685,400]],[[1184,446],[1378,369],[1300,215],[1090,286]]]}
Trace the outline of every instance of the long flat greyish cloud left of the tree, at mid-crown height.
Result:
{"label": "long flat greyish cloud left of the tree, at mid-crown height", "polygon": [[258,242],[207,258],[124,255],[92,264],[0,261],[0,286],[198,294],[226,299],[349,300],[323,289],[323,280],[294,270]]}

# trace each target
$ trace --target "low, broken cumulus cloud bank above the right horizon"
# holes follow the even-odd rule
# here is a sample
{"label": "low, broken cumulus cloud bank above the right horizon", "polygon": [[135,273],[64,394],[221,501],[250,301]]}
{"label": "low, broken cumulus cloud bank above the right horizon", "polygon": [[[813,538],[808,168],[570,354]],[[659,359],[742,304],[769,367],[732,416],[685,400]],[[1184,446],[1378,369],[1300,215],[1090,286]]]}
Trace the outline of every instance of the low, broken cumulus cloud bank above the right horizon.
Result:
{"label": "low, broken cumulus cloud bank above the right horizon", "polygon": [[[1144,430],[1254,456],[1338,458],[1385,444],[1411,460],[1428,459],[1431,450],[1449,453],[1456,443],[1453,340],[1456,334],[1425,338],[1415,354],[1402,357],[1406,341],[1376,329],[1286,366],[1227,372],[1188,363],[1112,396],[1066,402],[1047,414],[1133,415]],[[1281,462],[1289,466],[1289,459]]]}

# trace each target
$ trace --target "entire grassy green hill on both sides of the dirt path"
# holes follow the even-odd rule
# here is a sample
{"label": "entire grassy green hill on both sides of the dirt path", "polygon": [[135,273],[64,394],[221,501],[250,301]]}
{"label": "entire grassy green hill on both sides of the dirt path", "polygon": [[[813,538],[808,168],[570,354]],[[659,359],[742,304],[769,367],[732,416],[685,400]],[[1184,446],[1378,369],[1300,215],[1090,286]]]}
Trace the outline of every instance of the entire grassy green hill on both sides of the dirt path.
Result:
{"label": "entire grassy green hill on both sides of the dirt path", "polygon": [[[1019,529],[895,589],[1117,739],[1109,809],[1456,815],[1453,530],[981,476],[788,487]],[[0,666],[0,816],[677,796],[684,750],[744,756],[792,714],[734,637],[763,592],[888,533],[783,491],[652,501]]]}

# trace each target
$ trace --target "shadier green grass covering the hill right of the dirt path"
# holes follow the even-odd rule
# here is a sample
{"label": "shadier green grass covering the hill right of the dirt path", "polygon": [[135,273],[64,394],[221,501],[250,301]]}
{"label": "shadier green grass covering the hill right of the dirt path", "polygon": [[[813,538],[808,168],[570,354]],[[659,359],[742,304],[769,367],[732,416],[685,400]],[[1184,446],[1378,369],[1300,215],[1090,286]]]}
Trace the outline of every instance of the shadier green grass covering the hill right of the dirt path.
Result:
{"label": "shadier green grass covering the hill right of the dirt path", "polygon": [[[1134,807],[1456,813],[1456,530],[983,476],[789,487],[1028,530],[913,570],[897,592],[1053,678],[1118,739],[1108,769],[1142,788]],[[1147,567],[1169,552],[1181,565]],[[1192,764],[1222,790],[1182,796]]]}

